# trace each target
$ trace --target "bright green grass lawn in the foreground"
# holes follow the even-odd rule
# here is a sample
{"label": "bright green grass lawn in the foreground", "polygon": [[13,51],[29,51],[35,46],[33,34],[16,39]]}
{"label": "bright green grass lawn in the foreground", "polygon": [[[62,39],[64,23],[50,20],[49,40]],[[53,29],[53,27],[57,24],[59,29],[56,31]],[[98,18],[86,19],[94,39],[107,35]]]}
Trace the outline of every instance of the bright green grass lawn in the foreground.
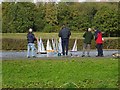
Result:
{"label": "bright green grass lawn in the foreground", "polygon": [[118,60],[3,60],[3,88],[118,88]]}

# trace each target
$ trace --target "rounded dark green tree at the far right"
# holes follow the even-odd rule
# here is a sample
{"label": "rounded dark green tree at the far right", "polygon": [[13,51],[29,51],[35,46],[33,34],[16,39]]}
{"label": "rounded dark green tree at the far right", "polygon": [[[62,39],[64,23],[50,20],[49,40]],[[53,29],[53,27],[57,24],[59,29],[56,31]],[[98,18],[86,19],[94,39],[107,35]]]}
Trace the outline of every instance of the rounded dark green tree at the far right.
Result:
{"label": "rounded dark green tree at the far right", "polygon": [[94,17],[94,26],[106,32],[108,36],[115,36],[118,29],[117,8],[106,5],[101,7]]}

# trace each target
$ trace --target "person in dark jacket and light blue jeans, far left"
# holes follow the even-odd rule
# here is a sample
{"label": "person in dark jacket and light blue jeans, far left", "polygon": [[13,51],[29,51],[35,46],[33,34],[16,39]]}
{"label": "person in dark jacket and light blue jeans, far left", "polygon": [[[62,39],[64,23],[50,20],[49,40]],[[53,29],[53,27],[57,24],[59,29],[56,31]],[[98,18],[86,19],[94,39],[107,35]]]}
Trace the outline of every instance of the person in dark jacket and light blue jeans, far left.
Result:
{"label": "person in dark jacket and light blue jeans, far left", "polygon": [[35,57],[35,44],[34,41],[36,41],[37,38],[35,38],[35,35],[33,34],[33,30],[32,28],[29,29],[29,32],[27,34],[27,41],[28,41],[28,45],[27,45],[27,57],[30,58],[30,50],[31,50],[31,56]]}

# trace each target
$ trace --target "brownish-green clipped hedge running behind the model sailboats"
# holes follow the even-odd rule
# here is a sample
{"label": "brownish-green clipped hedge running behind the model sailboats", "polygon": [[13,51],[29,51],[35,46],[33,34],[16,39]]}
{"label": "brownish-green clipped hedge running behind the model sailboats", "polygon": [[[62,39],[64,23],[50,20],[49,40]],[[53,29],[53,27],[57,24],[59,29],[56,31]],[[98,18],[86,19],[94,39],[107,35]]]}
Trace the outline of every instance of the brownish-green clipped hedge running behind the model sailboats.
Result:
{"label": "brownish-green clipped hedge running behind the model sailboats", "polygon": [[[69,50],[72,49],[74,44],[74,39],[70,39],[69,41]],[[43,39],[44,47],[46,47],[47,40]],[[83,39],[78,39],[77,47],[78,50],[82,50]],[[92,41],[91,48],[95,49],[95,41]],[[37,45],[36,45],[37,47]],[[103,44],[104,49],[120,49],[120,45],[118,43],[118,39],[105,39]],[[2,50],[27,50],[27,40],[26,39],[2,39]]]}

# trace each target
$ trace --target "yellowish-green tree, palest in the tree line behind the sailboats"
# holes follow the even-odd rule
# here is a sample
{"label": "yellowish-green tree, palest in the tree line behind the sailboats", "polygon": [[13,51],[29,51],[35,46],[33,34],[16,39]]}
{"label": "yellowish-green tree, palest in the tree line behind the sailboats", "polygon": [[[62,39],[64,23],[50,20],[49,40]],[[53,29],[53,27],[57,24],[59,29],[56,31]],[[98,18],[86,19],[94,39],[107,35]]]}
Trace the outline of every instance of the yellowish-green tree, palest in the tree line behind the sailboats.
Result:
{"label": "yellowish-green tree, palest in the tree line behind the sailboats", "polygon": [[45,3],[45,21],[46,21],[46,26],[44,31],[46,32],[57,31],[55,28],[55,26],[58,24],[57,5],[53,2]]}

